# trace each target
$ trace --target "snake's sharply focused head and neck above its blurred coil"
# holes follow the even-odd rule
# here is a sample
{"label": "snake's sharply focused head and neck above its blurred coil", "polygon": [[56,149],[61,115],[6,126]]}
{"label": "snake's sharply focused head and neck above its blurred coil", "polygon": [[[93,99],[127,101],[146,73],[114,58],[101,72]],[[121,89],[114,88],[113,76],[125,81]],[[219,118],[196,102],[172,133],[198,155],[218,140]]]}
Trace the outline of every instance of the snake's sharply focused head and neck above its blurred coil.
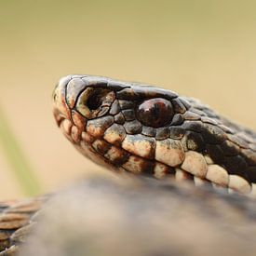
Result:
{"label": "snake's sharply focused head and neck above its blurred coil", "polygon": [[66,138],[100,165],[256,195],[256,133],[200,101],[91,75],[61,78],[53,99]]}

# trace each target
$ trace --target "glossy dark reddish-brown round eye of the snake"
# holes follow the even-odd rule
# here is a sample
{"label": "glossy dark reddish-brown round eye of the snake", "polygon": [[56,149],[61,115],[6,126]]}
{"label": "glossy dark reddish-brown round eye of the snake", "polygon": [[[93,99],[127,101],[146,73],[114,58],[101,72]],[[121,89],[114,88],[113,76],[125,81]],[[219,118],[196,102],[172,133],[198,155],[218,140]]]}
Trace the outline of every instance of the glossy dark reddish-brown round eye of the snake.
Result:
{"label": "glossy dark reddish-brown round eye of the snake", "polygon": [[167,125],[171,121],[174,112],[169,101],[162,98],[155,98],[142,102],[136,114],[142,125],[159,128]]}

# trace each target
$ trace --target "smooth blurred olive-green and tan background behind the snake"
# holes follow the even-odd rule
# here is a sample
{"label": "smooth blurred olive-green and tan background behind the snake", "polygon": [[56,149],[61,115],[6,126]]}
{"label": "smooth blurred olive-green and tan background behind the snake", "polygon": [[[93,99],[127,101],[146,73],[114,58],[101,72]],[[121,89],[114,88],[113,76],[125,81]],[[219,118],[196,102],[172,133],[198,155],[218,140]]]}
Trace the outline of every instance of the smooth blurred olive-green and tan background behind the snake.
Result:
{"label": "smooth blurred olive-green and tan background behind the snake", "polygon": [[161,85],[256,128],[255,13],[254,0],[2,0],[0,199],[37,193],[20,185],[26,170],[40,192],[104,173],[55,126],[50,96],[65,74]]}

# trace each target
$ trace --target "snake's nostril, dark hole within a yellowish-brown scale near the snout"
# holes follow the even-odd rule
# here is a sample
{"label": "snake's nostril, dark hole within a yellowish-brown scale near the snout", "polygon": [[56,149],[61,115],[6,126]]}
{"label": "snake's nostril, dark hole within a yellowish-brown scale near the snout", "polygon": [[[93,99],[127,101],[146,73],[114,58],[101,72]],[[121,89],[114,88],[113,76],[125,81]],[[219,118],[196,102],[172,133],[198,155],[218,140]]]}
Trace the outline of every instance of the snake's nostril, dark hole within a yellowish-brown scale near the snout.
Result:
{"label": "snake's nostril, dark hole within a yellowish-brown scale near the snout", "polygon": [[88,119],[105,115],[115,101],[115,92],[106,88],[86,88],[78,97],[75,108]]}

